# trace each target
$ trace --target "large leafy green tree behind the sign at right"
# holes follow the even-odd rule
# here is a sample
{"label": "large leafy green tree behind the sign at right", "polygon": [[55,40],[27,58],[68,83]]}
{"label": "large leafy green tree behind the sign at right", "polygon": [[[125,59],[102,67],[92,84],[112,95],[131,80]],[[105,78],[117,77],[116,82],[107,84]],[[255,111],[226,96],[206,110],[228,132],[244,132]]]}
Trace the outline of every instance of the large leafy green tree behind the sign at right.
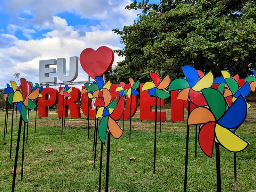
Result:
{"label": "large leafy green tree behind the sign at right", "polygon": [[182,65],[204,72],[229,70],[240,77],[256,68],[256,6],[247,0],[162,0],[159,4],[134,1],[126,9],[141,9],[139,19],[123,30],[125,59],[118,63],[119,81],[148,80],[148,73],[181,76]]}

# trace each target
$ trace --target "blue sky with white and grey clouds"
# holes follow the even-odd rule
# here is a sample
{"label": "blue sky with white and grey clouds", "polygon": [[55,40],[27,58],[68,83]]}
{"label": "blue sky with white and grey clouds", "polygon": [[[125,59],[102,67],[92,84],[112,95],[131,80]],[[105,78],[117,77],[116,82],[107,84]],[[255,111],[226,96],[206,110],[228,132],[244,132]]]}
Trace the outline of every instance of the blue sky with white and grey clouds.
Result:
{"label": "blue sky with white and grey clouds", "polygon": [[[158,3],[158,0],[150,0]],[[137,10],[124,10],[131,0],[1,0],[0,87],[20,72],[38,82],[39,60],[78,56],[87,47],[121,49],[122,29],[137,19]],[[115,55],[115,61],[124,58]],[[68,73],[68,65],[67,65]],[[76,79],[86,80],[79,68]]]}

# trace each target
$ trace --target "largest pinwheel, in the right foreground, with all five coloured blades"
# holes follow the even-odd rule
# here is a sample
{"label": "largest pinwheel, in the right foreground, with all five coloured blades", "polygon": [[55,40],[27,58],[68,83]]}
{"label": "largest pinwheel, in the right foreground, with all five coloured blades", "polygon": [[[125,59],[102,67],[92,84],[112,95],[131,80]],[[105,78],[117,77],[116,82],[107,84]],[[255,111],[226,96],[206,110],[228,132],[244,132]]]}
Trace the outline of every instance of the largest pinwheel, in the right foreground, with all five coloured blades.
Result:
{"label": "largest pinwheel, in the right foreground, with all five coloured blades", "polygon": [[239,95],[228,108],[228,103],[219,90],[205,88],[202,93],[209,108],[193,109],[188,117],[188,125],[201,124],[199,144],[203,152],[212,157],[214,141],[231,152],[244,150],[249,143],[234,133],[247,115],[243,95]]}

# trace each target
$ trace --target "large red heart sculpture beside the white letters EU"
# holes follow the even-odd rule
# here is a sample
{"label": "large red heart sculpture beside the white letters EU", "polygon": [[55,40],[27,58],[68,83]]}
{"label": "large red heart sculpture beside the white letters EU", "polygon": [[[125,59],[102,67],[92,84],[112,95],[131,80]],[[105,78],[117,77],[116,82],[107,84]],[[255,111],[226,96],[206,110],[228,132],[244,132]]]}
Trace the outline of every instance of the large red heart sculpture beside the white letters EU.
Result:
{"label": "large red heart sculpture beside the white letters EU", "polygon": [[86,48],[80,54],[80,63],[85,73],[95,80],[95,76],[106,74],[114,62],[114,52],[101,46],[96,51]]}

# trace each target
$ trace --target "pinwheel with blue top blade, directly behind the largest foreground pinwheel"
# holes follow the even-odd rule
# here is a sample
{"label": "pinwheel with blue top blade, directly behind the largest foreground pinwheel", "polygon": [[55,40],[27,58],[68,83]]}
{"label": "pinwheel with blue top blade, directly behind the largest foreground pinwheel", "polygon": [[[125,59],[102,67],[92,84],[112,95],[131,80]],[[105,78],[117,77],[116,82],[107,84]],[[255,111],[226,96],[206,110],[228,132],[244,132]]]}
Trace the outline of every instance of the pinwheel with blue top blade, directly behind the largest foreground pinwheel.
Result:
{"label": "pinwheel with blue top blade, directly behind the largest foreground pinwheel", "polygon": [[212,72],[209,71],[203,76],[202,71],[191,66],[183,66],[182,70],[185,77],[173,80],[168,90],[179,90],[177,99],[190,101],[196,106],[207,105],[201,90],[212,86],[214,79]]}

